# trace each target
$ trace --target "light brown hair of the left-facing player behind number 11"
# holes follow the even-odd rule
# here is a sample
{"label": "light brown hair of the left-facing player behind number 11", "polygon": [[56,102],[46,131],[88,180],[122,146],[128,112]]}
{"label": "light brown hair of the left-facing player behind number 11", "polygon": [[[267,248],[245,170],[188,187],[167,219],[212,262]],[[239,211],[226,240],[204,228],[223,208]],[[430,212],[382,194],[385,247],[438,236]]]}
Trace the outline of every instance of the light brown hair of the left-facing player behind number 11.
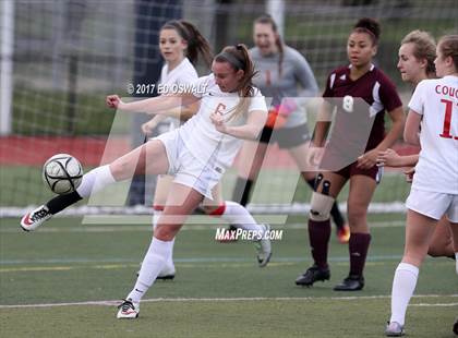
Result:
{"label": "light brown hair of the left-facing player behind number 11", "polygon": [[418,60],[425,59],[427,62],[426,74],[435,75],[436,43],[431,34],[419,29],[412,31],[401,40],[401,45],[405,44],[413,44],[413,56]]}

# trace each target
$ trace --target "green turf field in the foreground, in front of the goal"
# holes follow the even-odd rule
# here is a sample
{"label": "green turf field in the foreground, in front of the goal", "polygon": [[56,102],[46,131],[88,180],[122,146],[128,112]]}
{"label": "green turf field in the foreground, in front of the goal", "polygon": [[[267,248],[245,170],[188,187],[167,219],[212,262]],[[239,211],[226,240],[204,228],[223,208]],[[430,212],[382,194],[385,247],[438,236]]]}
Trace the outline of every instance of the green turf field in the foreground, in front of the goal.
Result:
{"label": "green turf field in the foreground, in front of the goal", "polygon": [[[371,217],[366,287],[337,293],[332,288],[348,273],[348,251],[334,237],[332,280],[294,286],[311,264],[304,219],[276,227],[284,238],[263,269],[251,243],[220,244],[214,227],[186,225],[174,250],[176,280],[149,290],[137,321],[118,321],[117,302],[101,301],[132,288],[149,226],[56,218],[24,233],[17,219],[0,222],[1,337],[384,337],[403,244],[401,215]],[[408,312],[409,337],[453,337],[457,281],[453,261],[426,261]],[[68,304],[81,302],[95,303]]]}

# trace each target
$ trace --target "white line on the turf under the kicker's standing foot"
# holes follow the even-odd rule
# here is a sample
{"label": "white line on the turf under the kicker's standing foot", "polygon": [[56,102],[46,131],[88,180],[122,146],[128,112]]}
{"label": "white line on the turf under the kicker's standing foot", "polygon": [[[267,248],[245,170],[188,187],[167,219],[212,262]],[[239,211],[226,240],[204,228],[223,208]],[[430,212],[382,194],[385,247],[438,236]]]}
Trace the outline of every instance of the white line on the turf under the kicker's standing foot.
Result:
{"label": "white line on the turf under the kicker's standing foot", "polygon": [[[458,298],[458,294],[417,294],[413,298]],[[243,298],[156,298],[146,299],[142,303],[160,303],[160,302],[258,302],[258,301],[316,301],[316,300],[333,300],[333,301],[359,301],[359,300],[373,300],[373,299],[389,299],[389,294],[381,295],[361,295],[361,297],[243,297]],[[0,305],[1,309],[24,309],[24,307],[55,307],[55,306],[77,306],[77,305],[104,305],[113,306],[120,304],[120,300],[114,301],[88,301],[88,302],[72,302],[72,303],[48,303],[48,304],[19,304],[19,305]],[[424,304],[424,303],[421,303]],[[450,306],[455,306],[458,303],[450,303]],[[430,304],[432,305],[432,304]],[[434,305],[434,304],[433,304]],[[437,305],[437,304],[435,304]]]}

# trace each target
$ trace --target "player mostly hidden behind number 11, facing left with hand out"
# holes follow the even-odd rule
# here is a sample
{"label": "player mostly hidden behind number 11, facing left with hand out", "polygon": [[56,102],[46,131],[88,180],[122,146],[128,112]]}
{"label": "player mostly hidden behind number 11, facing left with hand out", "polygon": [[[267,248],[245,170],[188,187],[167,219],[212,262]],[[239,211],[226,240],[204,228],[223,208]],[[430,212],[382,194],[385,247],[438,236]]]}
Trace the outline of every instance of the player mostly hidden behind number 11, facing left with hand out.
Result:
{"label": "player mostly hidden behind number 11, facing left with hand out", "polygon": [[[426,32],[413,31],[406,35],[399,48],[398,69],[402,81],[412,84],[413,88],[426,79],[435,79],[434,59],[436,58],[436,44],[434,38]],[[387,149],[381,152],[377,164],[388,167],[414,167],[419,160],[419,155],[399,156],[395,150]],[[406,171],[407,179],[411,182],[414,168]],[[427,254],[433,257],[455,258],[458,248],[454,248],[454,241],[450,224],[446,217],[443,217],[436,229],[427,250]],[[458,264],[458,262],[457,262]],[[458,273],[458,265],[457,265]]]}

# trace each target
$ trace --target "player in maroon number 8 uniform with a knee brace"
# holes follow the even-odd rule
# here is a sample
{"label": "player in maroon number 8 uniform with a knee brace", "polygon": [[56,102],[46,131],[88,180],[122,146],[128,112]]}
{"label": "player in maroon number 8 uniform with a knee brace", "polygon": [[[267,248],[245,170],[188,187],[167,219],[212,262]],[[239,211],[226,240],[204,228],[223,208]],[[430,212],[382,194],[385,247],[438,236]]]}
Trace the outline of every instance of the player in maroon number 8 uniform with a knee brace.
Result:
{"label": "player in maroon number 8 uniform with a knee brace", "polygon": [[[334,290],[357,291],[364,287],[363,269],[371,242],[367,207],[377,185],[378,167],[376,166],[376,158],[379,150],[387,149],[400,136],[403,126],[402,104],[396,87],[372,63],[372,59],[377,52],[379,34],[381,27],[376,21],[361,19],[350,33],[347,41],[350,64],[334,70],[326,83],[323,97],[346,98],[351,99],[351,101],[353,101],[353,98],[361,98],[371,107],[369,111],[364,108],[363,118],[369,121],[371,111],[376,114],[366,141],[365,153],[359,156],[358,160],[338,171],[326,170],[318,173],[317,186],[312,195],[309,219],[309,238],[314,264],[296,279],[296,283],[299,286],[312,286],[317,280],[329,279],[327,252],[330,236],[330,209],[339,192],[349,181],[347,215],[351,232],[349,240],[350,271],[348,277]],[[346,119],[351,116],[347,114],[342,108],[337,107],[333,129],[333,138],[339,135],[342,138],[340,144],[334,144],[335,147],[340,148],[335,153],[337,155],[348,149],[343,138],[349,134],[349,125],[346,124]],[[322,109],[329,113],[330,104],[325,100]],[[391,120],[391,128],[386,134],[385,111],[388,112]],[[316,123],[313,138],[315,147],[324,146],[328,128],[329,122],[318,121]],[[333,143],[333,138],[328,145]],[[332,148],[329,147],[329,149]],[[323,168],[323,166],[321,167]]]}

